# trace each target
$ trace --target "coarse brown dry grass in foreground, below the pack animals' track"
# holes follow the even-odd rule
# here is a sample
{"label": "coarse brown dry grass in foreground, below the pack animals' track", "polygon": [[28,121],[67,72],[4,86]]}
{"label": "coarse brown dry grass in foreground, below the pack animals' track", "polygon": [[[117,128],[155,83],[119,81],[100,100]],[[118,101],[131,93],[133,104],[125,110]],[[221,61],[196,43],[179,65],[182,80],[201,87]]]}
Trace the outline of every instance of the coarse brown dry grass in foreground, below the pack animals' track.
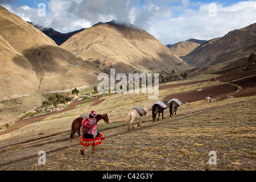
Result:
{"label": "coarse brown dry grass in foreground, below the pack animals' track", "polygon": [[[255,170],[255,98],[200,102],[181,106],[173,118],[143,122],[143,126],[128,132],[126,126],[100,131],[107,139],[96,147],[96,154],[81,156],[76,138],[72,143],[57,142],[35,147],[35,151],[67,148],[47,153],[47,164],[39,165],[38,158],[2,167],[25,170]],[[237,106],[239,105],[239,106]],[[193,107],[192,107],[193,106]],[[238,108],[237,108],[238,107]],[[194,113],[192,113],[192,110]],[[209,112],[208,112],[209,110]],[[239,114],[237,113],[239,110]],[[190,112],[190,113],[189,113]],[[167,113],[166,113],[167,114]],[[121,124],[121,123],[120,123]],[[5,152],[28,152],[32,148]],[[210,165],[208,155],[216,151],[217,164]],[[23,153],[25,154],[25,153]]]}

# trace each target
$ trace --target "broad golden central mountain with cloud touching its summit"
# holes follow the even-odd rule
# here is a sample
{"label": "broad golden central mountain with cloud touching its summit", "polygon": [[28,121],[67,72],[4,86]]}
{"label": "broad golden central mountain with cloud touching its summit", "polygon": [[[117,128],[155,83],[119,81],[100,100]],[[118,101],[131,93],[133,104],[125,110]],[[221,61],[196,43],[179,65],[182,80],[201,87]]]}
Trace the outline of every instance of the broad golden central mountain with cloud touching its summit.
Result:
{"label": "broad golden central mountain with cloud touching its summit", "polygon": [[60,47],[105,73],[111,68],[116,73],[191,68],[146,31],[116,20],[86,28]]}

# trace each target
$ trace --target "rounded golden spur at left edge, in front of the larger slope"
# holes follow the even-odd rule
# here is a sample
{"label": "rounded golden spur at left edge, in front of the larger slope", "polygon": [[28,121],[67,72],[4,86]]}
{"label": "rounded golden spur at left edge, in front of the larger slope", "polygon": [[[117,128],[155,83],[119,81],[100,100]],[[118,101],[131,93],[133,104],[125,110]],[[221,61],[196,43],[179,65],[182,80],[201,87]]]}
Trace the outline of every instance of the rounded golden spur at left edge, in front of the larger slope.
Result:
{"label": "rounded golden spur at left edge, in front of the larger slope", "polygon": [[[33,94],[38,77],[30,61],[0,36],[0,100],[7,96]],[[19,92],[14,90],[19,89]]]}

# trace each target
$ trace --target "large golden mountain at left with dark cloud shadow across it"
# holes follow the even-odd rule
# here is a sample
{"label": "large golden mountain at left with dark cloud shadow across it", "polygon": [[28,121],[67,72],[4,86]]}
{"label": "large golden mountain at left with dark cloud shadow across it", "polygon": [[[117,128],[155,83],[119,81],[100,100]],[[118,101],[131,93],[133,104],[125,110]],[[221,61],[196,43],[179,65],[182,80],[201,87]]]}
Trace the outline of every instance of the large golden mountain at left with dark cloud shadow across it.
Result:
{"label": "large golden mountain at left with dark cloud shadow across it", "polygon": [[0,98],[92,85],[98,71],[0,6]]}

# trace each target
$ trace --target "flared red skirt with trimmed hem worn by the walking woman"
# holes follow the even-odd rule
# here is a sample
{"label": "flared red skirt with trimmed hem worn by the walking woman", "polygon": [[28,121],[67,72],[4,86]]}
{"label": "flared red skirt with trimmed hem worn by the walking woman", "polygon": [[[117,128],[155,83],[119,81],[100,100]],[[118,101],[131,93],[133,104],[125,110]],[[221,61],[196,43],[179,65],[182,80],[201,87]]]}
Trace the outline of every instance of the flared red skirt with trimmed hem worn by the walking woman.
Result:
{"label": "flared red skirt with trimmed hem worn by the walking woman", "polygon": [[102,140],[106,139],[102,134],[98,133],[96,138],[93,138],[91,134],[84,134],[80,138],[80,144],[82,146],[97,146],[98,144],[102,143]]}

